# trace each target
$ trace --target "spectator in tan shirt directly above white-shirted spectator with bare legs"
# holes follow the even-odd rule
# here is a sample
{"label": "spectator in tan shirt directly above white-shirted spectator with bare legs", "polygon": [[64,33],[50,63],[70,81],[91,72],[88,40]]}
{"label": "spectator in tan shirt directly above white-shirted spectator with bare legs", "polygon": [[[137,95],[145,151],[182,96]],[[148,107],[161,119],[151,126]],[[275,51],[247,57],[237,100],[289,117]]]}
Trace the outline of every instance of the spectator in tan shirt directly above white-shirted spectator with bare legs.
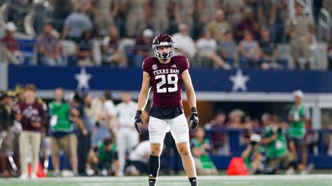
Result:
{"label": "spectator in tan shirt directly above white-shirted spectator with bare legs", "polygon": [[216,10],[216,17],[207,24],[207,29],[212,31],[212,37],[216,42],[221,43],[226,40],[226,33],[232,34],[233,29],[225,20],[225,13],[223,10]]}

